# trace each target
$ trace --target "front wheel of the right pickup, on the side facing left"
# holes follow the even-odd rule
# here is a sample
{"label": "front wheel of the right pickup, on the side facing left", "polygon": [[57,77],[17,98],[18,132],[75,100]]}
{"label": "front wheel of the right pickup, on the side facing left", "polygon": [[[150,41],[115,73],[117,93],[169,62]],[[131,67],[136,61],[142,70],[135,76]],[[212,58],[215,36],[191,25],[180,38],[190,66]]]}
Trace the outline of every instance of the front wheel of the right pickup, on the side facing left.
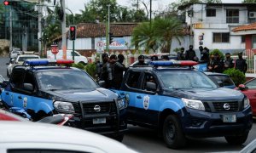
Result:
{"label": "front wheel of the right pickup, on the side facing left", "polygon": [[163,137],[167,146],[172,149],[178,149],[186,144],[187,139],[183,134],[177,116],[170,115],[166,117],[163,125]]}

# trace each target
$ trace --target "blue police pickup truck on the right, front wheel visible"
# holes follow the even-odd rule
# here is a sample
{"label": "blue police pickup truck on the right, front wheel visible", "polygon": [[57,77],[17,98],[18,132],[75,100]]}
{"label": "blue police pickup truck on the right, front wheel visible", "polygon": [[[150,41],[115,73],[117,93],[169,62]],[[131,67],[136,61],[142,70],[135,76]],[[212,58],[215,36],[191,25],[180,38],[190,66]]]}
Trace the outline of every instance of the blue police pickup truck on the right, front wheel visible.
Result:
{"label": "blue police pickup truck on the right, front wheel visible", "polygon": [[247,96],[220,88],[194,61],[154,61],[130,67],[121,88],[129,102],[128,123],[154,128],[168,147],[177,149],[189,137],[222,137],[243,144],[253,125]]}

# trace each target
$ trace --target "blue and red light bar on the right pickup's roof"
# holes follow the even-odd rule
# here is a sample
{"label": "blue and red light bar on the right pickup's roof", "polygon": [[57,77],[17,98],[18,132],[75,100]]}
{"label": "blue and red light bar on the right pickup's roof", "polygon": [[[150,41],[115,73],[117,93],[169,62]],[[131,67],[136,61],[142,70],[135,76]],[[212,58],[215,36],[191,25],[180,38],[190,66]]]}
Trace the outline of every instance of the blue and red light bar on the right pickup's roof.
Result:
{"label": "blue and red light bar on the right pickup's roof", "polygon": [[159,60],[159,61],[151,61],[149,65],[154,66],[193,66],[197,65],[197,62],[192,60]]}

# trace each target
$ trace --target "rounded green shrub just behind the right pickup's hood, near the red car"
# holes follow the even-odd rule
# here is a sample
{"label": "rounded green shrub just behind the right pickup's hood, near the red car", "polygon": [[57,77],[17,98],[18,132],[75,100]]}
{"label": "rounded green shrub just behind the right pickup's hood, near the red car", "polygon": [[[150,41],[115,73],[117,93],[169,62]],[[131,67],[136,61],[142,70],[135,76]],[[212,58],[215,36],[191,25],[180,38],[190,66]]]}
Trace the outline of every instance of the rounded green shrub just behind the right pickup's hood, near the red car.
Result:
{"label": "rounded green shrub just behind the right pickup's hood, near the red car", "polygon": [[235,82],[236,86],[246,82],[245,75],[241,71],[236,70],[234,68],[224,71],[224,74],[229,75],[231,79]]}

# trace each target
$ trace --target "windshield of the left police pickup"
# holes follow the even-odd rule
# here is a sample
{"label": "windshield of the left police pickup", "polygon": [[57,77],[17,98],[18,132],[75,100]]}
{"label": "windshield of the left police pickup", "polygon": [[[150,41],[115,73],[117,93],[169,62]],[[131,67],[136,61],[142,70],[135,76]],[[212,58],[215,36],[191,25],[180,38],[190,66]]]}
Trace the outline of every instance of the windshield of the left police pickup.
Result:
{"label": "windshield of the left police pickup", "polygon": [[41,71],[37,75],[39,86],[44,90],[98,88],[84,71]]}

